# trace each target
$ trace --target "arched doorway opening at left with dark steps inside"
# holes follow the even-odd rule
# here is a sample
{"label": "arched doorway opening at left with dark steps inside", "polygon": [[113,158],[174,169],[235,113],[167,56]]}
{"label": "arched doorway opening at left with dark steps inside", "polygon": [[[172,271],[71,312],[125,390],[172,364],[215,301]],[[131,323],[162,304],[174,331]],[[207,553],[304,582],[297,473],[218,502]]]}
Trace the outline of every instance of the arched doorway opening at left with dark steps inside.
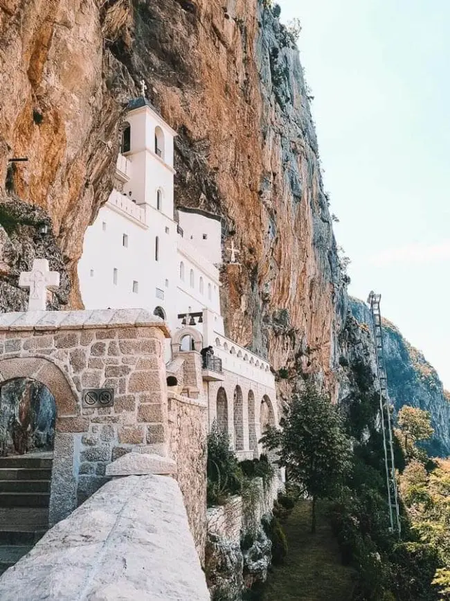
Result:
{"label": "arched doorway opening at left with dark steps inside", "polygon": [[[29,377],[0,382],[0,545],[13,564],[48,528],[56,402]],[[8,564],[0,564],[0,574]]]}

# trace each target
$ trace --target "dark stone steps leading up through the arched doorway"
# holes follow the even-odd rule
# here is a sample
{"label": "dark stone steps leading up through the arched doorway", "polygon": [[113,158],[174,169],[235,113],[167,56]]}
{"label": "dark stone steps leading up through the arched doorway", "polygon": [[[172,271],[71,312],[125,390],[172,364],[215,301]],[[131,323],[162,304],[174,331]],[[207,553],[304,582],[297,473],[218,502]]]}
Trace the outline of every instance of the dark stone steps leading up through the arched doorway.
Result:
{"label": "dark stone steps leading up through the arched doorway", "polygon": [[0,574],[48,529],[53,453],[0,458]]}

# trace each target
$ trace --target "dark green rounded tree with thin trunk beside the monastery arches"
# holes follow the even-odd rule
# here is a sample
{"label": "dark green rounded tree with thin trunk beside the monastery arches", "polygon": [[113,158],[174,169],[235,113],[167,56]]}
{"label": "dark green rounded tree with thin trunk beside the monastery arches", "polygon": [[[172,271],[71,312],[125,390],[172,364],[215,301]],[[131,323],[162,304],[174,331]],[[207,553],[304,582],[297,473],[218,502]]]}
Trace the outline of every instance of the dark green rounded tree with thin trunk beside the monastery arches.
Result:
{"label": "dark green rounded tree with thin trunk beside the monastery arches", "polygon": [[278,452],[278,464],[286,467],[289,480],[311,496],[315,532],[316,500],[330,497],[350,471],[350,438],[338,408],[312,385],[294,397],[280,426],[266,430],[261,442]]}

